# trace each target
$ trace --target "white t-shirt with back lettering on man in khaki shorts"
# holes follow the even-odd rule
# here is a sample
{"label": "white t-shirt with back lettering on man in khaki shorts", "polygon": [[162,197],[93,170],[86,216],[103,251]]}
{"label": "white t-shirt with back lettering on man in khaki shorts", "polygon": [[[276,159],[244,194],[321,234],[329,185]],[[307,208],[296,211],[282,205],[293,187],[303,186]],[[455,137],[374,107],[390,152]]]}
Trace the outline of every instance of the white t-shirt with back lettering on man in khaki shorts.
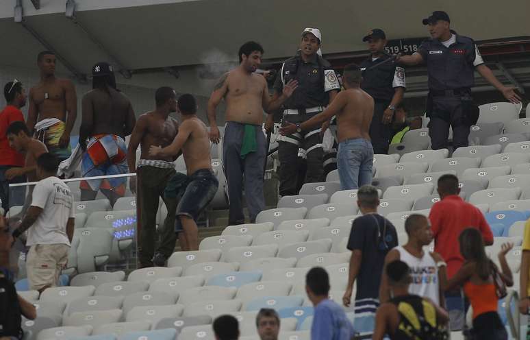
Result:
{"label": "white t-shirt with back lettering on man in khaki shorts", "polygon": [[27,230],[26,245],[66,244],[66,223],[75,217],[73,196],[68,186],[59,178],[40,180],[33,189],[31,206],[42,208],[42,213]]}

